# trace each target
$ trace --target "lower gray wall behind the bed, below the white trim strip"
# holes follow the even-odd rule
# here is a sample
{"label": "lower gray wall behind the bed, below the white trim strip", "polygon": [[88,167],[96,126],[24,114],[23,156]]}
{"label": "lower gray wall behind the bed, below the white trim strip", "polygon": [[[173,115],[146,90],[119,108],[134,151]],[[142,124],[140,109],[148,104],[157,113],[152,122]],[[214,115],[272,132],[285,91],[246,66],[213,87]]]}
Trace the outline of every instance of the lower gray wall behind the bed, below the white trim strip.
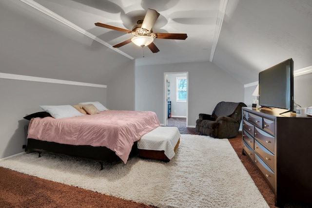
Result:
{"label": "lower gray wall behind the bed, below the white trim strip", "polygon": [[0,158],[24,151],[26,144],[23,119],[40,112],[39,105],[78,104],[99,101],[106,105],[106,88],[0,78]]}

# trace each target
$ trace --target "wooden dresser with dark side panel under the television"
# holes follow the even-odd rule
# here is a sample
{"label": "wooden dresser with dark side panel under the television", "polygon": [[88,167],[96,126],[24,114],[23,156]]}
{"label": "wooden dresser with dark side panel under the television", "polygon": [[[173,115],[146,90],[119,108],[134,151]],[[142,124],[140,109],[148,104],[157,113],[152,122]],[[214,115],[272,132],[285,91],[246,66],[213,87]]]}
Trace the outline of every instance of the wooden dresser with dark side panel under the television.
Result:
{"label": "wooden dresser with dark side panel under the television", "polygon": [[242,108],[243,154],[273,190],[275,206],[312,204],[312,117],[285,111]]}

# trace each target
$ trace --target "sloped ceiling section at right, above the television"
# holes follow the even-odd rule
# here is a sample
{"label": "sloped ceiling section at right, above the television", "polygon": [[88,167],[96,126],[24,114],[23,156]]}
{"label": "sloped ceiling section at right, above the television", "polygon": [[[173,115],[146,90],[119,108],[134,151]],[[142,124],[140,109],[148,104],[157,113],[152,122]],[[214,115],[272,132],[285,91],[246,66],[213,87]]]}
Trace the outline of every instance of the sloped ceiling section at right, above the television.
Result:
{"label": "sloped ceiling section at right, above the television", "polygon": [[312,66],[311,0],[230,0],[213,62],[242,83],[288,58]]}

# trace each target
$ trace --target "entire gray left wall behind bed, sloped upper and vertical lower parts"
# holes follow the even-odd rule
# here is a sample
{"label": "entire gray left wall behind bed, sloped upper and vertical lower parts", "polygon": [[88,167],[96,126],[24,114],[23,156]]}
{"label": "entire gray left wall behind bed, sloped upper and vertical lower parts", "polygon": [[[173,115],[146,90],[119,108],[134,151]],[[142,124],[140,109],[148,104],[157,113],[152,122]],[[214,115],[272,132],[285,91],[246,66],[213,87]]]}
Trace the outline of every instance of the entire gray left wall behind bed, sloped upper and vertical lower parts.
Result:
{"label": "entire gray left wall behind bed, sloped upper and vertical lower parts", "polygon": [[0,158],[22,152],[22,117],[39,105],[100,101],[134,110],[134,60],[22,1],[0,0],[0,73],[107,85],[83,87],[0,78]]}

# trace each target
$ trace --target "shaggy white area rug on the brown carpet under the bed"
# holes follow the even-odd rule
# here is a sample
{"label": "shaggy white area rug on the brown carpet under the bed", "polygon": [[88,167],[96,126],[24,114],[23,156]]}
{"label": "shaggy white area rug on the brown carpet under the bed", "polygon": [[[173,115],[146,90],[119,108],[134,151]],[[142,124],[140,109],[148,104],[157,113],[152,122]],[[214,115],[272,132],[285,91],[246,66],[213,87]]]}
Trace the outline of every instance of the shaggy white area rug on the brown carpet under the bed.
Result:
{"label": "shaggy white area rug on the brown carpet under the bed", "polygon": [[0,166],[47,180],[162,208],[269,208],[227,139],[182,134],[169,162],[131,158],[126,165],[42,153]]}

